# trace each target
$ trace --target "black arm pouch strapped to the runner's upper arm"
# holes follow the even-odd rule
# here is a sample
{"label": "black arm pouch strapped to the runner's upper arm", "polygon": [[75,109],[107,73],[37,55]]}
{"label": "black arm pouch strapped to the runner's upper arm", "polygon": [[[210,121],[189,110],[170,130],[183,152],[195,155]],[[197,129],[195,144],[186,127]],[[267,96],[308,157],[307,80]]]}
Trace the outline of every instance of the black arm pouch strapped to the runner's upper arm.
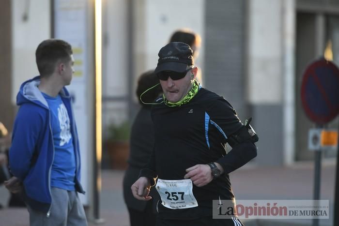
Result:
{"label": "black arm pouch strapped to the runner's upper arm", "polygon": [[228,137],[227,142],[231,145],[231,147],[234,147],[238,144],[247,141],[255,143],[259,140],[259,136],[255,133],[254,129],[249,124],[251,121],[252,118],[246,120],[245,125],[243,125],[237,132],[232,134],[230,137]]}

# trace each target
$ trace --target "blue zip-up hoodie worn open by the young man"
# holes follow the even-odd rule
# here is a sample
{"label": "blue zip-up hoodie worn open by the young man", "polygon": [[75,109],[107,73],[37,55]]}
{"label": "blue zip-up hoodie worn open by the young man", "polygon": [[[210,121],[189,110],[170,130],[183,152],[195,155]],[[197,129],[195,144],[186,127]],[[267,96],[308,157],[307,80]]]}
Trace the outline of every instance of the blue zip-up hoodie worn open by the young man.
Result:
{"label": "blue zip-up hoodie worn open by the young man", "polygon": [[[38,89],[40,76],[24,82],[16,96],[20,106],[14,123],[9,163],[12,174],[23,181],[26,203],[48,214],[52,203],[50,193],[51,168],[54,159],[53,134],[48,104]],[[71,106],[71,96],[65,87],[60,91],[71,121],[71,133],[76,157],[76,190],[85,192],[80,184],[80,151],[77,127]]]}

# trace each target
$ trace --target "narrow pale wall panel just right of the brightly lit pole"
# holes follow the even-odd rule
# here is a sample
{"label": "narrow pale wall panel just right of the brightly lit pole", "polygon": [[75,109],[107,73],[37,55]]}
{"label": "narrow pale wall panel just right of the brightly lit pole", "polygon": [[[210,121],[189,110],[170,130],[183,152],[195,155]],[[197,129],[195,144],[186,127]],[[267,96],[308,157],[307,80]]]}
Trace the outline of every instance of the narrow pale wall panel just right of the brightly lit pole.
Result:
{"label": "narrow pale wall panel just right of the brightly lit pole", "polygon": [[[103,136],[111,123],[127,119],[128,13],[127,0],[103,0]],[[126,101],[105,101],[125,98]]]}

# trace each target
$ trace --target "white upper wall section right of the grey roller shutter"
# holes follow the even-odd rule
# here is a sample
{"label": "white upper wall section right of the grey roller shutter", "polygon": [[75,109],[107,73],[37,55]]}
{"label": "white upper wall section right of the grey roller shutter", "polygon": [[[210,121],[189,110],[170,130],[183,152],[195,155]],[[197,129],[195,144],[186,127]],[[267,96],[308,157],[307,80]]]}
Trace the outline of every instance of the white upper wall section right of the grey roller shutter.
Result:
{"label": "white upper wall section right of the grey roller shutter", "polygon": [[248,31],[248,100],[278,104],[282,100],[282,0],[250,0]]}

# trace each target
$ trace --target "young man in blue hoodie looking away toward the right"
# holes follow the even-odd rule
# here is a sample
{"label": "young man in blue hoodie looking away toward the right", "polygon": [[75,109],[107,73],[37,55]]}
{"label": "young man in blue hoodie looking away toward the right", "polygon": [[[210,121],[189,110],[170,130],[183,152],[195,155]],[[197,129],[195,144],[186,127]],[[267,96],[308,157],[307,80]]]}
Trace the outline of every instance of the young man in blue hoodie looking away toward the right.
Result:
{"label": "young man in blue hoodie looking away toward the right", "polygon": [[40,76],[24,82],[9,151],[14,177],[5,181],[22,191],[31,226],[87,226],[78,192],[80,150],[71,96],[65,86],[74,73],[72,46],[47,39],[35,52]]}

